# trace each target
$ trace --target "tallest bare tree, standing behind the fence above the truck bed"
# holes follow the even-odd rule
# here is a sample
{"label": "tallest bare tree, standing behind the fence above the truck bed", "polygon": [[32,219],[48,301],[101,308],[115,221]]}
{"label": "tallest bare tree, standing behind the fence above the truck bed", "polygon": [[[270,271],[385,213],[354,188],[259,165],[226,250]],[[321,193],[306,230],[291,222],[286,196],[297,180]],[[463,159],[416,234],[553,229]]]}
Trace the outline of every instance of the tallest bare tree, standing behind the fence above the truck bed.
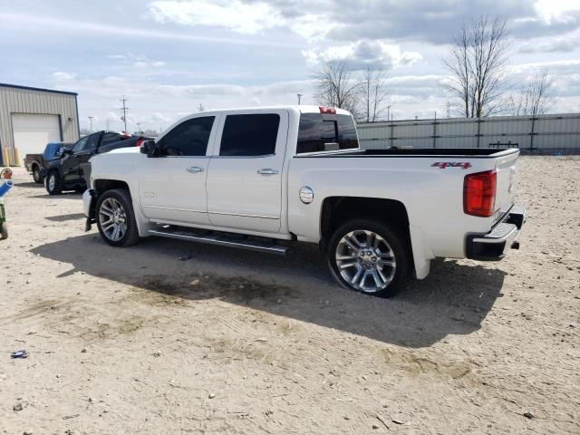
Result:
{"label": "tallest bare tree, standing behind the fence above the truck bed", "polygon": [[454,97],[466,118],[489,116],[503,108],[507,91],[507,28],[498,17],[463,24],[453,36],[449,57],[443,61],[451,73],[444,88]]}

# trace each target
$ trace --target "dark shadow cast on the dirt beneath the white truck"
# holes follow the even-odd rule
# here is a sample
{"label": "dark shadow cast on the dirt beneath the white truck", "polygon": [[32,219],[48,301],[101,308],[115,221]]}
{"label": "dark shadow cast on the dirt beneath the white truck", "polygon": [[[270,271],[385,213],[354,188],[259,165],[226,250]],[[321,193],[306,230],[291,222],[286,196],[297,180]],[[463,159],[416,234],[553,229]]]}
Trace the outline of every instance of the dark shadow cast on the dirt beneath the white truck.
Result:
{"label": "dark shadow cast on the dirt beneath the white truck", "polygon": [[477,331],[501,295],[506,275],[484,266],[434,261],[427,279],[411,282],[387,300],[338,287],[311,245],[297,246],[286,257],[153,237],[120,249],[92,233],[31,252],[73,266],[59,276],[82,271],[176,298],[219,298],[408,347]]}

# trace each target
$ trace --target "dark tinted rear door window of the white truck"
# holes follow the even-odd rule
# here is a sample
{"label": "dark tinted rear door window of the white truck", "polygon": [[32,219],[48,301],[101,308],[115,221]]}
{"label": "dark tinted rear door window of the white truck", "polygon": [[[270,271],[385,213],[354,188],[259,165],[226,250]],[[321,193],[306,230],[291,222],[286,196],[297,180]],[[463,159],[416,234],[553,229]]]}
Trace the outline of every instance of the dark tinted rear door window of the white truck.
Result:
{"label": "dark tinted rear door window of the white truck", "polygon": [[227,115],[219,155],[258,157],[275,154],[279,126],[280,115],[275,113]]}

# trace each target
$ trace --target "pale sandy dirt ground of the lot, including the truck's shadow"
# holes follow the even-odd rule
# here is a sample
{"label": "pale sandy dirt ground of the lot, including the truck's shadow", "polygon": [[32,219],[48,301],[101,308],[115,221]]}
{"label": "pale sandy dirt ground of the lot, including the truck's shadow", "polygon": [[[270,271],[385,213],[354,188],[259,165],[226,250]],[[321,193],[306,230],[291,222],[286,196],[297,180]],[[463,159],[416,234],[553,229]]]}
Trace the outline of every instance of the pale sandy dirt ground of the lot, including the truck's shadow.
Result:
{"label": "pale sandy dirt ground of the lot, including the truck's shadow", "polygon": [[338,288],[315,247],[108,247],[79,195],[15,182],[2,433],[580,433],[578,159],[520,160],[519,251],[434,261],[391,300]]}

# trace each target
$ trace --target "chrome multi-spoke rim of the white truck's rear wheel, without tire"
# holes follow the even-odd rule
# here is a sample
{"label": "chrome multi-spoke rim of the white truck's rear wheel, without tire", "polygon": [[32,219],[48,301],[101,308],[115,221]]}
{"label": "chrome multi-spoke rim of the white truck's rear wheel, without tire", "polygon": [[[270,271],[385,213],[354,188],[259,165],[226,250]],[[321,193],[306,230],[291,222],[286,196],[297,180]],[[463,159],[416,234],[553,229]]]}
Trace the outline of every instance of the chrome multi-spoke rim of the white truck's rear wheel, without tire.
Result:
{"label": "chrome multi-spoke rim of the white truck's rear wheel, without tire", "polygon": [[343,279],[365,293],[376,293],[391,284],[397,268],[391,246],[370,230],[345,234],[336,246],[334,259]]}

